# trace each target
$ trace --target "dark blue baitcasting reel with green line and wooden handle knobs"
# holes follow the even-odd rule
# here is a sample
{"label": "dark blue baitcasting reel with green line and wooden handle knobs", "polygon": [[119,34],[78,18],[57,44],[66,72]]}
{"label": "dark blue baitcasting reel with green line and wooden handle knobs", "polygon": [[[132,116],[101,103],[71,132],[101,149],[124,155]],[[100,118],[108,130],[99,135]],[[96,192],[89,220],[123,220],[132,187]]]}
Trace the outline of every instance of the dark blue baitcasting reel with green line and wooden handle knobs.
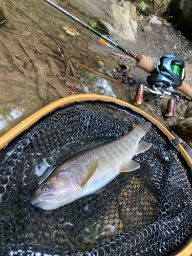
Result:
{"label": "dark blue baitcasting reel with green line and wooden handle knobs", "polygon": [[181,86],[185,78],[184,67],[184,61],[174,54],[160,56],[155,69],[146,79],[151,88],[141,84],[137,88],[133,104],[139,106],[143,103],[143,93],[145,91],[151,93],[155,98],[160,97],[168,99],[165,116],[173,117],[175,102],[171,94],[174,92],[175,88]]}

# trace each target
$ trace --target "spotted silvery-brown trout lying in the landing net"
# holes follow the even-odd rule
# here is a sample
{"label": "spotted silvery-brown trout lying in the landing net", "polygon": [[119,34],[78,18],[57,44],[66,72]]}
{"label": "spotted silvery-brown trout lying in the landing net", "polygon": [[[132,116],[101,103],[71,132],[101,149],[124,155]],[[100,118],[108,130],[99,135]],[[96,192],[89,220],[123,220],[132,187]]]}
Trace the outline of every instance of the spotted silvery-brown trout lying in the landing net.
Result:
{"label": "spotted silvery-brown trout lying in the landing net", "polygon": [[151,126],[151,122],[133,124],[132,130],[120,138],[64,161],[35,189],[30,203],[44,210],[53,210],[79,198],[98,194],[121,173],[138,169],[140,164],[132,158],[152,146],[152,143],[140,142]]}

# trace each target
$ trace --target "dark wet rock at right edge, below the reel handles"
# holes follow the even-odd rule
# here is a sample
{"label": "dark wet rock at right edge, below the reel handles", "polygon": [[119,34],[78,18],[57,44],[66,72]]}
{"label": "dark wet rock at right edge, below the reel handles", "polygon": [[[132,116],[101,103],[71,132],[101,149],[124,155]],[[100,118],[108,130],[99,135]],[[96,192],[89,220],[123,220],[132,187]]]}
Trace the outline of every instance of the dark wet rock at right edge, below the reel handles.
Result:
{"label": "dark wet rock at right edge, below the reel handles", "polygon": [[170,125],[169,129],[190,146],[192,141],[192,117],[186,118],[177,124]]}

